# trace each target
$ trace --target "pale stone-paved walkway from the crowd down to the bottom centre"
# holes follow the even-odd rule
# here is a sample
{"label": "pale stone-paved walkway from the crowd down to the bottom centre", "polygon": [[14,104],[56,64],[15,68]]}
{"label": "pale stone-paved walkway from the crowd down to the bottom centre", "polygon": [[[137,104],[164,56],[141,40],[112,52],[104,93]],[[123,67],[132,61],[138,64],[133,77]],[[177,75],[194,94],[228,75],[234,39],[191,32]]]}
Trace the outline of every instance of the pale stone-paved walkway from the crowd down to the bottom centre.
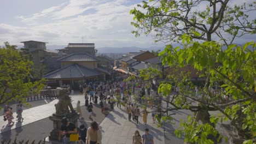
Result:
{"label": "pale stone-paved walkway from the crowd down to the bottom centre", "polygon": [[165,144],[164,128],[158,128],[157,124],[153,123],[151,113],[148,115],[147,125],[143,124],[143,117],[141,116],[137,125],[135,121],[129,122],[128,115],[123,106],[121,109],[115,106],[114,111],[111,111],[102,121],[100,128],[102,130],[102,143],[104,144],[131,144],[135,131],[138,130],[142,136],[146,128],[154,136],[155,144]]}

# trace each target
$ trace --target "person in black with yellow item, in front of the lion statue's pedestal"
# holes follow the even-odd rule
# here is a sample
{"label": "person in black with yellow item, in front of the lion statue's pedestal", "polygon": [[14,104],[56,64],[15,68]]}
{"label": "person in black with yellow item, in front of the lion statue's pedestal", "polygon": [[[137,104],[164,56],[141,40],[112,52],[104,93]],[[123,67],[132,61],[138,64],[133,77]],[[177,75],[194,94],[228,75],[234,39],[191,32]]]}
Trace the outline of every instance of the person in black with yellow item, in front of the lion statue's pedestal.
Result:
{"label": "person in black with yellow item, in front of the lion statue's pedestal", "polygon": [[70,141],[70,135],[77,133],[77,128],[75,128],[75,125],[71,122],[68,122],[68,119],[66,117],[62,118],[62,125],[61,125],[61,131],[59,134],[59,140],[61,140],[61,135],[63,135],[63,144],[75,144],[74,141]]}

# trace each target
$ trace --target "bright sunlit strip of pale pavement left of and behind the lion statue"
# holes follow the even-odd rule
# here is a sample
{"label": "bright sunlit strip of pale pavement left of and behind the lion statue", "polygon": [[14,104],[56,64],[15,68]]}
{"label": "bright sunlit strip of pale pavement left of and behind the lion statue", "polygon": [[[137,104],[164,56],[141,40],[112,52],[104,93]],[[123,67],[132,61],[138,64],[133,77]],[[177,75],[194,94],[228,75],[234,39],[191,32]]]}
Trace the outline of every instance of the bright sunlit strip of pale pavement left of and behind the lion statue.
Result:
{"label": "bright sunlit strip of pale pavement left of and behind the lion statue", "polygon": [[[80,102],[81,102],[80,105],[85,104],[83,95],[69,95],[69,96],[72,99],[71,103],[74,108],[77,107],[78,100],[80,100]],[[31,109],[24,110],[22,112],[22,117],[24,118],[24,122],[22,122],[22,123],[21,122],[17,123],[16,107],[13,107],[13,112],[14,112],[13,121],[15,122],[15,124],[13,125],[13,127],[7,127],[8,121],[1,120],[0,121],[0,128],[1,128],[0,133],[4,133],[5,131],[22,127],[23,125],[39,121],[40,119],[48,118],[49,116],[53,115],[53,113],[56,111],[54,105],[57,104],[58,101],[59,101],[58,99],[55,99],[55,100],[51,101],[51,103],[49,103],[49,104],[40,105],[40,106],[32,107]],[[0,119],[3,119],[3,116],[0,116]]]}

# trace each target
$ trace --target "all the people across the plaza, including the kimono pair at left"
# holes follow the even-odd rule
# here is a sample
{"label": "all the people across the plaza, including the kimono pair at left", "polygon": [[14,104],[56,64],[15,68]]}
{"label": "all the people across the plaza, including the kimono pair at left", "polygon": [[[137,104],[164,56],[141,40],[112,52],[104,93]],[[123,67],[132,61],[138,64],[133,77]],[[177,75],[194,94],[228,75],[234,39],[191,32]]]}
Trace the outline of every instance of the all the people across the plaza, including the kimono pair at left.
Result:
{"label": "all the people across the plaza, including the kimono pair at left", "polygon": [[[46,87],[45,87],[46,88]],[[62,88],[70,88],[69,85],[63,85]],[[140,91],[135,95],[134,100],[132,100],[131,95],[135,94],[136,88],[140,88]],[[151,87],[152,88],[152,87]],[[135,121],[138,124],[138,117],[143,116],[143,122],[147,124],[148,113],[152,113],[153,122],[155,123],[155,115],[161,118],[161,112],[159,113],[161,101],[160,97],[155,96],[151,100],[144,100],[147,95],[150,94],[150,87],[146,87],[140,80],[132,81],[123,81],[123,78],[116,80],[109,80],[105,82],[86,82],[81,83],[79,86],[79,91],[83,93],[85,98],[85,106],[89,113],[89,118],[92,120],[91,126],[86,128],[84,124],[80,125],[79,129],[75,127],[74,123],[68,121],[66,117],[62,118],[62,126],[60,131],[59,139],[61,135],[63,136],[63,143],[75,143],[70,141],[69,137],[71,134],[79,134],[79,144],[101,144],[102,133],[98,128],[97,122],[93,121],[93,104],[101,106],[101,112],[104,113],[106,110],[113,111],[114,104],[117,104],[119,109],[123,107],[129,117],[129,121]],[[156,95],[158,95],[156,93]],[[139,104],[150,105],[140,110]],[[151,110],[147,110],[151,109]],[[16,107],[17,120],[22,122],[22,103],[21,101]],[[77,112],[80,113],[80,117],[83,118],[82,110],[80,106],[80,101],[77,103]],[[4,120],[8,121],[8,126],[14,125],[13,122],[13,108],[5,105],[4,107]],[[149,134],[149,129],[144,130],[145,134],[142,136],[139,134],[139,131],[135,131],[135,134],[132,137],[133,144],[152,144],[153,136]]]}

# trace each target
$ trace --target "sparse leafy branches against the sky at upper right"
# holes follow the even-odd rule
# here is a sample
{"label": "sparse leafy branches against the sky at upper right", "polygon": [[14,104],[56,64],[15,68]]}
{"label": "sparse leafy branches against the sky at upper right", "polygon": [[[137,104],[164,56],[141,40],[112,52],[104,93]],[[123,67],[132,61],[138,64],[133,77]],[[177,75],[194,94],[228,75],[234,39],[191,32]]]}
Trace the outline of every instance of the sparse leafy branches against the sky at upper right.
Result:
{"label": "sparse leafy branches against the sky at upper right", "polygon": [[232,44],[235,37],[255,34],[256,19],[252,17],[251,11],[255,11],[256,2],[234,6],[229,5],[229,2],[143,1],[130,11],[135,21],[131,25],[137,28],[132,33],[136,37],[152,33],[156,42],[181,41],[183,34],[188,34],[193,39],[211,41],[214,34],[226,45]]}

